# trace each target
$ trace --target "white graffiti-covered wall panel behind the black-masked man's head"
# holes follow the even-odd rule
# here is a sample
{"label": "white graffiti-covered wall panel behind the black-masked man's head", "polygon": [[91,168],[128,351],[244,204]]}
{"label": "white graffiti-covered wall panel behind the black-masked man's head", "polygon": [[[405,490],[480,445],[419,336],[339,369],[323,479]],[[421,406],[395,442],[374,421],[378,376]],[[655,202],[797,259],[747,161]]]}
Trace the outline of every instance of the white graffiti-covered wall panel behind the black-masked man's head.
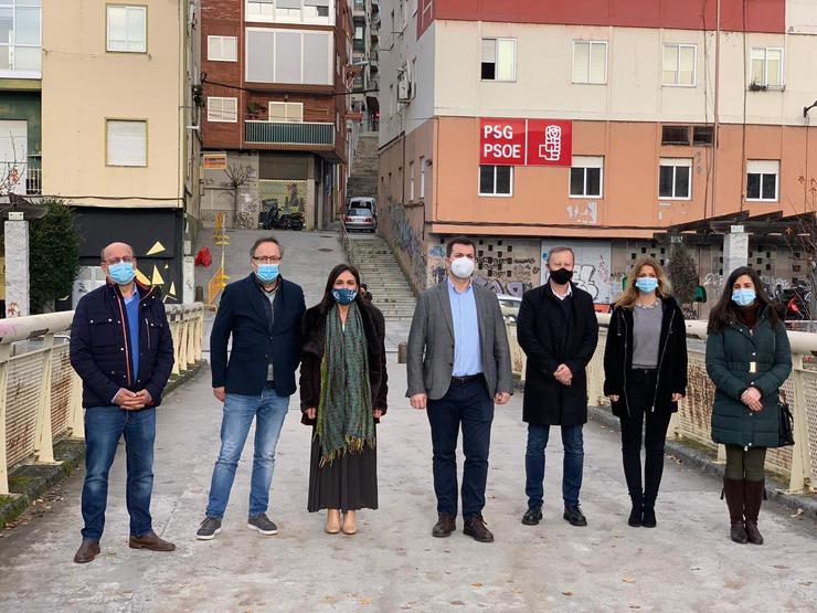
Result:
{"label": "white graffiti-covered wall panel behind the black-masked man's head", "polygon": [[[608,305],[615,295],[614,276],[611,272],[611,246],[604,241],[560,241],[560,245],[571,247],[576,254],[573,268],[573,283],[584,289],[595,304]],[[548,251],[556,242],[542,241],[542,284],[548,282]]]}

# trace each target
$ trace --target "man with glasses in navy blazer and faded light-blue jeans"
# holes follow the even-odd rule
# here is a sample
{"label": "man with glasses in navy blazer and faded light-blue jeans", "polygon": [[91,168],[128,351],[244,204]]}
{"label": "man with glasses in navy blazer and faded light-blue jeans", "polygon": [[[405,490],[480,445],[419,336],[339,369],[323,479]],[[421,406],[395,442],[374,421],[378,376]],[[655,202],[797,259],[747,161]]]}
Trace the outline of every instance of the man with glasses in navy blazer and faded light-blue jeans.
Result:
{"label": "man with glasses in navy blazer and faded light-blue jeans", "polygon": [[[276,535],[266,515],[275,467],[275,446],[295,392],[300,356],[300,320],[306,306],[300,286],[279,274],[284,251],[273,237],[250,250],[253,272],[224,289],[210,335],[213,394],[224,403],[221,452],[213,469],[206,517],[195,533],[210,540],[221,531],[235,468],[255,420],[255,453],[247,527]],[[227,340],[233,337],[227,361]]]}

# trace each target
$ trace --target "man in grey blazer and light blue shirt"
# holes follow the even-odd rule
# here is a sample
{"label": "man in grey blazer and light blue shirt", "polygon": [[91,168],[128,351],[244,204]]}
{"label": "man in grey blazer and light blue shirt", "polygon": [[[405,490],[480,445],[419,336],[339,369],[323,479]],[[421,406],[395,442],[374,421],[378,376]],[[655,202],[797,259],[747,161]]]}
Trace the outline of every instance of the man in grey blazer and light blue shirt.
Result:
{"label": "man in grey blazer and light blue shirt", "polygon": [[505,320],[496,294],[473,283],[476,245],[448,241],[448,277],[417,300],[408,335],[412,406],[427,408],[438,521],[435,537],[456,529],[457,437],[463,429],[464,532],[494,541],[482,519],[494,403],[510,400],[513,382]]}

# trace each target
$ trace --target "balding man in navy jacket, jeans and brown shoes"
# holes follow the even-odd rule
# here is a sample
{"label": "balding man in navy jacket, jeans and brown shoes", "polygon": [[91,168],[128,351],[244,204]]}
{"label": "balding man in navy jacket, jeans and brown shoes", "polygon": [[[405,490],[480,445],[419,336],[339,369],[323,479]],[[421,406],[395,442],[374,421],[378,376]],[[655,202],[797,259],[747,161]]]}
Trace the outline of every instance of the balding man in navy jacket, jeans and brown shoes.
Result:
{"label": "balding man in navy jacket, jeans and brown shoes", "polygon": [[108,471],[119,438],[127,454],[127,505],[134,549],[172,551],[152,530],[156,408],[173,368],[161,292],[135,281],[130,245],[112,243],[102,251],[103,287],[79,300],[71,327],[71,364],[83,381],[85,408],[85,485],[83,542],[74,556],[91,562],[99,553],[108,497]]}

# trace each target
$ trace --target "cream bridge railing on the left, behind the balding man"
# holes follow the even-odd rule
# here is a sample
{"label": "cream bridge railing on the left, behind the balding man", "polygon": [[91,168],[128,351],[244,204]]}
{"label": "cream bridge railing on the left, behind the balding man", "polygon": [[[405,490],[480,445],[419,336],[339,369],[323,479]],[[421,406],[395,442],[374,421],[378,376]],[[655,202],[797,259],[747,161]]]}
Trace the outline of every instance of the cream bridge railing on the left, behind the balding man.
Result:
{"label": "cream bridge railing on the left, behind the balding man", "polygon": [[[167,305],[173,374],[201,360],[204,307]],[[0,319],[0,495],[23,462],[54,462],[54,443],[82,438],[82,381],[71,367],[73,311]]]}

